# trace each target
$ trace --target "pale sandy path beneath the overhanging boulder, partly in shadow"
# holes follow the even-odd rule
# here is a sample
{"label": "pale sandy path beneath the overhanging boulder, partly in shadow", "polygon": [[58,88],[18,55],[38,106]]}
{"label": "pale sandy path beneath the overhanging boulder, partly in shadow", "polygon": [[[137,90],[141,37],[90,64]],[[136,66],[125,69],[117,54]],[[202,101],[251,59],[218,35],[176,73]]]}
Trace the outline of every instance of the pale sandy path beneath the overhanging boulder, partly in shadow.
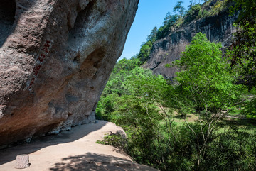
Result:
{"label": "pale sandy path beneath the overhanging boulder, partly in shadow", "polygon": [[75,126],[55,136],[46,136],[33,143],[0,150],[0,171],[18,170],[16,155],[28,154],[30,167],[24,171],[75,171],[75,170],[148,170],[151,167],[132,162],[128,155],[110,145],[95,143],[107,133],[122,128],[114,123],[97,121]]}

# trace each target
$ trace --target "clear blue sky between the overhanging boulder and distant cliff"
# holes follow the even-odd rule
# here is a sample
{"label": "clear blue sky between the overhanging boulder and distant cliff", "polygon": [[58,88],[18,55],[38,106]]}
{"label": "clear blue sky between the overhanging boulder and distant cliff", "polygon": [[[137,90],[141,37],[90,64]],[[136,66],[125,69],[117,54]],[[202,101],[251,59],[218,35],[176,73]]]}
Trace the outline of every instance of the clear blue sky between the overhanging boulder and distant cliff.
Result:
{"label": "clear blue sky between the overhanging boulder and distant cliff", "polygon": [[[173,7],[177,1],[182,0],[140,0],[139,7],[132,24],[132,28],[128,33],[124,51],[119,60],[130,57],[139,53],[139,49],[151,30],[156,26],[163,26],[166,13],[173,14]],[[187,7],[190,0],[185,0],[183,6]],[[198,3],[198,0],[196,1]]]}

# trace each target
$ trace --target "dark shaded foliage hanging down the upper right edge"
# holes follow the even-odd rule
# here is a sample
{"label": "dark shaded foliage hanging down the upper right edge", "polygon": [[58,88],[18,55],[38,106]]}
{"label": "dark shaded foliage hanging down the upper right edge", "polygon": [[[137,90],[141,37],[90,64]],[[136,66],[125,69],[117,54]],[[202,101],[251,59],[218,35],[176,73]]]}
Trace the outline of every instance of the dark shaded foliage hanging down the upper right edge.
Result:
{"label": "dark shaded foliage hanging down the upper right edge", "polygon": [[234,42],[230,46],[228,56],[232,59],[232,66],[242,68],[244,84],[248,89],[256,86],[256,2],[235,0],[235,6],[230,9],[232,13],[240,10],[235,26]]}

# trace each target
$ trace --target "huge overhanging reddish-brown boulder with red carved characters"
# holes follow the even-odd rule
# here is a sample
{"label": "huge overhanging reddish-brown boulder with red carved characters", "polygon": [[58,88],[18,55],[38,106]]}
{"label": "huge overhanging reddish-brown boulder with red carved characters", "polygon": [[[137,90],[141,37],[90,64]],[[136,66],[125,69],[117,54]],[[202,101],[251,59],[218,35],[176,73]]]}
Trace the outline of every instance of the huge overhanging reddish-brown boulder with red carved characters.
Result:
{"label": "huge overhanging reddish-brown boulder with red carved characters", "polygon": [[1,1],[0,146],[95,120],[138,1]]}

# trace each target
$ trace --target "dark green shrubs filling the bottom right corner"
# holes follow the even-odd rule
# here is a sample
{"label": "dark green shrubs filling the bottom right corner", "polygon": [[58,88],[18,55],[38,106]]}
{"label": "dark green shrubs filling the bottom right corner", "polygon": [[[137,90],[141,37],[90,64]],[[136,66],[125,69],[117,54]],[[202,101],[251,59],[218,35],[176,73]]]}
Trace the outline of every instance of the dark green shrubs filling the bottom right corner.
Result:
{"label": "dark green shrubs filling the bottom right corner", "polygon": [[221,133],[210,143],[203,167],[207,170],[256,170],[255,140],[255,133],[235,130]]}

